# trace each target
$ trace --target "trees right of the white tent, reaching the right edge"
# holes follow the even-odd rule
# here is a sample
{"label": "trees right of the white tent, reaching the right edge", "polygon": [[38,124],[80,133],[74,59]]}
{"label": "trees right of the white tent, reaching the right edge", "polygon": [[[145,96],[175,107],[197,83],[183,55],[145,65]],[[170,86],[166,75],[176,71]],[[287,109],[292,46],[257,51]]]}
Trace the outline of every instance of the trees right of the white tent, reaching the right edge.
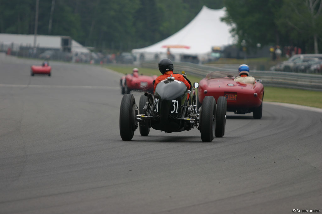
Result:
{"label": "trees right of the white tent, reaching the right edge", "polygon": [[[224,0],[237,44],[301,47],[304,52],[322,50],[321,0]],[[320,51],[319,51],[320,49]]]}

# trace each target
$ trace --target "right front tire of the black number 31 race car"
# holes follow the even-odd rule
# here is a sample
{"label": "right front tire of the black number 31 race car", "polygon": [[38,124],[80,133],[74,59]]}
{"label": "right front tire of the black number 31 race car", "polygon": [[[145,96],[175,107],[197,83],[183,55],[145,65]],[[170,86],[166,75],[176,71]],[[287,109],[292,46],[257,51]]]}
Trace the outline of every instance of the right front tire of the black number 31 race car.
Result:
{"label": "right front tire of the black number 31 race car", "polygon": [[215,136],[223,137],[226,127],[227,115],[227,99],[226,97],[219,97],[216,106],[216,128]]}

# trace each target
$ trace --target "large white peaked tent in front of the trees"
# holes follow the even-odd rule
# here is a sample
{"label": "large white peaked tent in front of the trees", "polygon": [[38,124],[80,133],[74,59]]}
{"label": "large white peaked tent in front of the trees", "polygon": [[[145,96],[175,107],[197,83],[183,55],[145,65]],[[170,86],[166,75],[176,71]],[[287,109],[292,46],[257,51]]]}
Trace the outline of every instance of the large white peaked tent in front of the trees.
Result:
{"label": "large white peaked tent in front of the trees", "polygon": [[198,56],[200,61],[207,60],[212,47],[223,47],[232,44],[230,27],[220,20],[226,9],[213,10],[203,6],[201,11],[183,29],[154,45],[133,49],[137,59],[152,60],[167,56],[167,48],[175,61],[184,55]]}

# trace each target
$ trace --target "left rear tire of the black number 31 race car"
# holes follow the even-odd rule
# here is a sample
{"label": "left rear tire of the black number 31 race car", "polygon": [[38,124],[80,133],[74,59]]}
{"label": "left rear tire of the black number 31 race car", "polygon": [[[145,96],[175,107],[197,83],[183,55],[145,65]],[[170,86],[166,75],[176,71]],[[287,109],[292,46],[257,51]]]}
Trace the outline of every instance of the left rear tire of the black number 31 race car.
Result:
{"label": "left rear tire of the black number 31 race car", "polygon": [[133,138],[136,130],[136,108],[133,94],[125,94],[122,97],[119,117],[120,135],[123,141],[130,141]]}

